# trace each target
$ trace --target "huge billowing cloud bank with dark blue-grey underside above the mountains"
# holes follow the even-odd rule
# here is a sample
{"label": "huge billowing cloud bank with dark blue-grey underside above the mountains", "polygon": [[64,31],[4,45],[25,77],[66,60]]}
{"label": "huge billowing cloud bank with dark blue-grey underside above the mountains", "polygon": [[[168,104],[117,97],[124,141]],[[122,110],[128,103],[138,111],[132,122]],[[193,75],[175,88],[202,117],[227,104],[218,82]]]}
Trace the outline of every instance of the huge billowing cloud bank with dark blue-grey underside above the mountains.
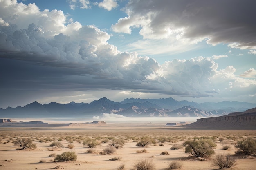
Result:
{"label": "huge billowing cloud bank with dark blue-grey underside above the mountains", "polygon": [[22,99],[92,89],[190,97],[230,95],[230,89],[256,93],[256,80],[237,77],[233,66],[218,70],[218,63],[204,57],[159,64],[136,52],[121,52],[108,44],[107,32],[66,23],[62,11],[5,0],[0,14],[1,23],[9,24],[0,24],[0,72],[5,73],[0,103],[17,94]]}

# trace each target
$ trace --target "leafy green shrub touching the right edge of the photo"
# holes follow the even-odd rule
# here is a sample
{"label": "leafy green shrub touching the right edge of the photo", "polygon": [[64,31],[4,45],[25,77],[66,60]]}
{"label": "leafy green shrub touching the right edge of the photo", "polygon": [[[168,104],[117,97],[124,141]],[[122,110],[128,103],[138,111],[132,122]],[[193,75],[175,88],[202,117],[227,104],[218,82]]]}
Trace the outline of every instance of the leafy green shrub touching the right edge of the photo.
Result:
{"label": "leafy green shrub touching the right edge of the photo", "polygon": [[238,149],[236,153],[243,152],[245,155],[250,155],[256,152],[256,139],[248,137],[243,140],[238,140],[235,147]]}

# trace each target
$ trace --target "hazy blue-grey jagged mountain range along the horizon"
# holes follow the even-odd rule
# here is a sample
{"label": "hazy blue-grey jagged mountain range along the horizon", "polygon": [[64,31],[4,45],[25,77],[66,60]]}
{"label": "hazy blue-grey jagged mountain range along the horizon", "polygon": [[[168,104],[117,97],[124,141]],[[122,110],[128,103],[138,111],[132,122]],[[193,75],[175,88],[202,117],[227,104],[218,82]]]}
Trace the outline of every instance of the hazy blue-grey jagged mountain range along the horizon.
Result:
{"label": "hazy blue-grey jagged mountain range along the horizon", "polygon": [[103,113],[115,113],[126,117],[214,117],[227,115],[230,112],[245,111],[256,107],[248,102],[188,102],[176,101],[173,98],[162,99],[124,99],[114,102],[106,97],[91,103],[60,104],[51,102],[40,104],[33,102],[24,107],[0,109],[0,117],[8,118],[92,118]]}

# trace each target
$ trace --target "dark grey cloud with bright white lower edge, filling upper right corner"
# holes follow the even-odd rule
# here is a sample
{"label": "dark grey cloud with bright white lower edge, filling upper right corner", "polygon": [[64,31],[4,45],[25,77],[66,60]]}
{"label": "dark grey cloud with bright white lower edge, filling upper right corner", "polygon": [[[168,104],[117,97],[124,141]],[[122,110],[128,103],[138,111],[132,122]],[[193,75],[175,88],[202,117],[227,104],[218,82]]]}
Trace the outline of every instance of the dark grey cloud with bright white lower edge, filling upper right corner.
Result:
{"label": "dark grey cloud with bright white lower edge, filling upper right corner", "polygon": [[144,39],[206,40],[212,45],[256,49],[256,24],[251,20],[256,15],[255,4],[240,0],[130,0],[124,7],[128,17],[120,18],[112,30],[131,33],[133,27],[139,27]]}

